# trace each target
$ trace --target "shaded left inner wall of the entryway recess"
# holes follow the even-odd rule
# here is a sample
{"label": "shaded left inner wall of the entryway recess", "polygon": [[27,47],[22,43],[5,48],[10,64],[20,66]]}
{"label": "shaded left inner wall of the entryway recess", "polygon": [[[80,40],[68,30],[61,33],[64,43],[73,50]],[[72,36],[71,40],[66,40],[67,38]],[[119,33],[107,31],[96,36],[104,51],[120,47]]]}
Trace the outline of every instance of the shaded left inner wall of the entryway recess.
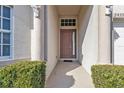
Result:
{"label": "shaded left inner wall of the entryway recess", "polygon": [[57,63],[58,55],[58,14],[55,6],[47,6],[48,58],[46,78],[49,77]]}

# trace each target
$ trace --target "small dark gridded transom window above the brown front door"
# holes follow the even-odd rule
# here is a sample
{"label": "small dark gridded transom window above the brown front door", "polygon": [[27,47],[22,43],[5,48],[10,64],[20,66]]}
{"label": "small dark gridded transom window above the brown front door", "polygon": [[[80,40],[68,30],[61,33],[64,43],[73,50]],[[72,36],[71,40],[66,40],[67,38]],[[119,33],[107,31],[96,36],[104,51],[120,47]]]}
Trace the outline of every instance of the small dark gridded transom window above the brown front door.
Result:
{"label": "small dark gridded transom window above the brown front door", "polygon": [[75,18],[62,18],[60,20],[61,26],[76,26]]}

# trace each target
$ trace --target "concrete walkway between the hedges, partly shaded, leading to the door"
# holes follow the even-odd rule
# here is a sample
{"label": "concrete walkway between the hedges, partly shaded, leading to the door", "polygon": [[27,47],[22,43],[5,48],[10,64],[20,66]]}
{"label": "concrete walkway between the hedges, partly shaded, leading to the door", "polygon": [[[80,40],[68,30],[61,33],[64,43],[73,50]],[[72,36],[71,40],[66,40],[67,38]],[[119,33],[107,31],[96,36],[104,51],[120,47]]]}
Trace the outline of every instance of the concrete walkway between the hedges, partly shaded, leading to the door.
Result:
{"label": "concrete walkway between the hedges, partly shaded, leading to the door", "polygon": [[77,62],[58,62],[46,88],[93,88],[90,75]]}

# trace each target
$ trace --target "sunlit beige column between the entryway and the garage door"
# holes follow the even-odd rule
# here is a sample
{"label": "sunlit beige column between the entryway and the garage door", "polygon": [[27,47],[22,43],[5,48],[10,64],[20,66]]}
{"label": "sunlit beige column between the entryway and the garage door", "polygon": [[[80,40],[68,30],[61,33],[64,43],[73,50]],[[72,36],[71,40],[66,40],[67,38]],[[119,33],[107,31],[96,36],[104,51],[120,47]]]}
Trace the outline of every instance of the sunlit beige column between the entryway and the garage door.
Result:
{"label": "sunlit beige column between the entryway and the garage door", "polygon": [[110,16],[106,6],[99,6],[99,57],[100,64],[110,64]]}

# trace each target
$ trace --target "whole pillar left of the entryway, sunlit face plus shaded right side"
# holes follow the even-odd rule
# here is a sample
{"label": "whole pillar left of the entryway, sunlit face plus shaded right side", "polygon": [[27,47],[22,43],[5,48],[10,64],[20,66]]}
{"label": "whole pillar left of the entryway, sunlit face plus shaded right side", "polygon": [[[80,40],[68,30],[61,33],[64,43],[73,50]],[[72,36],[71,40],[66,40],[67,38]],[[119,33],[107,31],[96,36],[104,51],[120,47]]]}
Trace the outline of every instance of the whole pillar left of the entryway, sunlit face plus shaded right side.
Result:
{"label": "whole pillar left of the entryway, sunlit face plus shaded right side", "polygon": [[[37,7],[37,8],[36,8]],[[44,6],[32,6],[31,60],[44,59]]]}

